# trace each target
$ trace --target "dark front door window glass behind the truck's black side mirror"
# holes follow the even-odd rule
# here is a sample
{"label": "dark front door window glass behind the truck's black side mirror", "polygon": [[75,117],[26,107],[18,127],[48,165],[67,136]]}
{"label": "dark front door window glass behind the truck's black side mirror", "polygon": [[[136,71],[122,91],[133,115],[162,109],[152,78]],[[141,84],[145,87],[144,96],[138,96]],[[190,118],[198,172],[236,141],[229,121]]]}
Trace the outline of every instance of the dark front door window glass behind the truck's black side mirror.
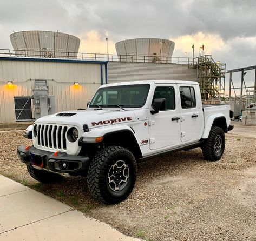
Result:
{"label": "dark front door window glass behind the truck's black side mirror", "polygon": [[154,99],[166,99],[166,110],[175,109],[174,88],[169,86],[159,86],[155,88]]}

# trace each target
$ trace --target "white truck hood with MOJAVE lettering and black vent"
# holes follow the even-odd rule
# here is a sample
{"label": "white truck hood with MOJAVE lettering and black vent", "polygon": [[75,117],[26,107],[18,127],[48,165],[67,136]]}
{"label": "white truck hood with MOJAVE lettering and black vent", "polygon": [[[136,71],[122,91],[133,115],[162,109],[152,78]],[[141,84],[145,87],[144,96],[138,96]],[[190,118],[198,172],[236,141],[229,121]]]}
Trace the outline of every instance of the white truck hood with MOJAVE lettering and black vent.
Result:
{"label": "white truck hood with MOJAVE lettering and black vent", "polygon": [[88,128],[99,126],[121,124],[135,121],[135,112],[139,110],[75,110],[63,111],[54,115],[44,116],[35,123],[74,125],[83,129],[87,124]]}

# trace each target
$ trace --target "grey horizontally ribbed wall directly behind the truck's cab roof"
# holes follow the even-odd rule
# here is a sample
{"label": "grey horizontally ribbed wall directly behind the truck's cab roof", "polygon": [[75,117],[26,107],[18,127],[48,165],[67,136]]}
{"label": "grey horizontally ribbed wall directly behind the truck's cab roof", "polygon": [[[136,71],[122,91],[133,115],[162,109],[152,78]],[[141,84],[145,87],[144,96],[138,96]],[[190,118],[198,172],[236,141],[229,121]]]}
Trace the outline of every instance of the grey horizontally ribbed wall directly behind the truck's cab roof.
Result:
{"label": "grey horizontally ribbed wall directly behind the truck's cab roof", "polygon": [[176,79],[197,81],[196,69],[181,64],[108,63],[108,83],[143,79]]}

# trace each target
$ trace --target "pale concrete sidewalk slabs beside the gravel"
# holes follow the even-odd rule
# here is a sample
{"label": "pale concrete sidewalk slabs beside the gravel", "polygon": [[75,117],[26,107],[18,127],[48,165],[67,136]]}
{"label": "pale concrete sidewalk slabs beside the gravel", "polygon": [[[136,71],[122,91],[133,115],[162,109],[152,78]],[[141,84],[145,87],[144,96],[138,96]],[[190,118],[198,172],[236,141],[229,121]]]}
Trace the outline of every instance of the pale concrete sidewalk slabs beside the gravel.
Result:
{"label": "pale concrete sidewalk slabs beside the gravel", "polygon": [[0,240],[122,240],[105,223],[0,175]]}

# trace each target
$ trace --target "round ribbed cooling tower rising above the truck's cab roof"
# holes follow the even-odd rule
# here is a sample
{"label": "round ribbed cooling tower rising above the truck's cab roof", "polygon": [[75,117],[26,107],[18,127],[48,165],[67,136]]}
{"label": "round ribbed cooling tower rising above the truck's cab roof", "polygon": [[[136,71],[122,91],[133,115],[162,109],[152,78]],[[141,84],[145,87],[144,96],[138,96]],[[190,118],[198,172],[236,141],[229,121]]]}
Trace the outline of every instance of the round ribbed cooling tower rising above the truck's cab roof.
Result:
{"label": "round ribbed cooling tower rising above the truck's cab roof", "polygon": [[120,61],[170,63],[175,43],[165,38],[134,38],[117,42]]}

